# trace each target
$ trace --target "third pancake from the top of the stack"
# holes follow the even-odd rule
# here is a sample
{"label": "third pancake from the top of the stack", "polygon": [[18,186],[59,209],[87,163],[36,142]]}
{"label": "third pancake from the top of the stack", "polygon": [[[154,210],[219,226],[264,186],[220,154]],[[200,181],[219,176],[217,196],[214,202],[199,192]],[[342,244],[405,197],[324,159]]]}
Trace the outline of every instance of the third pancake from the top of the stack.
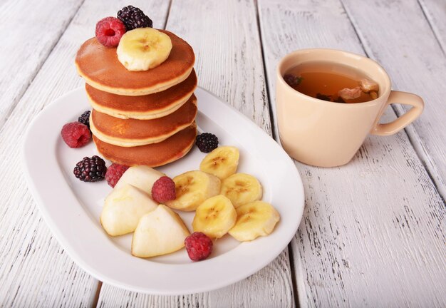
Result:
{"label": "third pancake from the top of the stack", "polygon": [[197,116],[197,98],[191,98],[170,115],[153,120],[120,119],[93,111],[90,114],[90,130],[105,143],[122,147],[134,147],[159,143],[190,126]]}

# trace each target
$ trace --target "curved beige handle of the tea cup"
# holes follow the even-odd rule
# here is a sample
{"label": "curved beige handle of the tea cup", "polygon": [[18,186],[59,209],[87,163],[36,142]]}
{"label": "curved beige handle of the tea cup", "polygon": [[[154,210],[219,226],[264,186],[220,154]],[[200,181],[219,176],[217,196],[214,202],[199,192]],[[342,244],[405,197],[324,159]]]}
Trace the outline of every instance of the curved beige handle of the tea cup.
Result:
{"label": "curved beige handle of the tea cup", "polygon": [[413,106],[410,111],[404,113],[396,120],[390,123],[380,124],[377,123],[375,127],[370,131],[373,135],[393,135],[412,123],[416,118],[420,116],[422,110],[425,107],[425,103],[420,96],[413,93],[391,91],[390,96],[385,104],[385,108],[391,103],[401,103],[404,105]]}

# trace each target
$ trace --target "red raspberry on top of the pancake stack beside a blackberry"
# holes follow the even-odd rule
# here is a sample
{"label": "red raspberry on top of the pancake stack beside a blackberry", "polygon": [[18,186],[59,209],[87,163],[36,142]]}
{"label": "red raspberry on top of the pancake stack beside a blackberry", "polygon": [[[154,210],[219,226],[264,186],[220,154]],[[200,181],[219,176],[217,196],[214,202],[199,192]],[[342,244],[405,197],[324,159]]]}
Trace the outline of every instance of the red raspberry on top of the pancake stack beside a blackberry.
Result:
{"label": "red raspberry on top of the pancake stack beside a blackberry", "polygon": [[116,47],[125,34],[125,25],[115,17],[105,17],[96,24],[96,39],[105,47]]}

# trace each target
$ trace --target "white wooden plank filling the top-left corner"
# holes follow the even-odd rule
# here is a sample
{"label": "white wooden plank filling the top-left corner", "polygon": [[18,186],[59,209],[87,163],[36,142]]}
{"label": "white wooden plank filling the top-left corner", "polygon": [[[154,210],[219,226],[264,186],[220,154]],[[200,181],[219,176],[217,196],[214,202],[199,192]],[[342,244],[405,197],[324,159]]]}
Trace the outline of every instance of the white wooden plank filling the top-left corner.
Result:
{"label": "white wooden plank filling the top-left corner", "polygon": [[81,5],[8,0],[0,6],[0,128]]}

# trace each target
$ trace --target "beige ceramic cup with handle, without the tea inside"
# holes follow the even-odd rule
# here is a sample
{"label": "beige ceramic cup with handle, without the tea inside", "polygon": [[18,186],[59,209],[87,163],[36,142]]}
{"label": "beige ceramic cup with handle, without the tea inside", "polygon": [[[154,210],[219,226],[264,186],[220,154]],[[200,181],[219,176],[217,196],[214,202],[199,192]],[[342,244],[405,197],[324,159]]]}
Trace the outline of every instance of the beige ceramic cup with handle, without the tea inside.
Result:
{"label": "beige ceramic cup with handle, without the tea inside", "polygon": [[[306,96],[284,81],[289,68],[301,63],[329,61],[362,71],[379,85],[378,98],[365,103],[333,103]],[[375,61],[333,49],[304,49],[289,53],[277,66],[276,112],[281,144],[294,159],[308,165],[334,167],[348,163],[368,133],[392,135],[418,118],[420,96],[391,91],[388,74]],[[391,103],[411,105],[400,118],[378,123]]]}

